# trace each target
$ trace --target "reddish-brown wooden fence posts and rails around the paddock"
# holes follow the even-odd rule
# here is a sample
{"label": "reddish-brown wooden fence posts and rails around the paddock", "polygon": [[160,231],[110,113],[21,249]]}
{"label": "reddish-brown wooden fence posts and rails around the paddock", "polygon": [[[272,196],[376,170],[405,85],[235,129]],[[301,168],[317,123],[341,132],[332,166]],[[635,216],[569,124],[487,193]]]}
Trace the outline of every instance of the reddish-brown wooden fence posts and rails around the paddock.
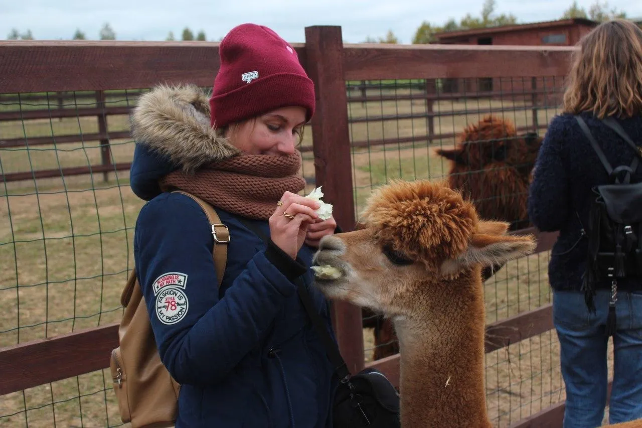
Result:
{"label": "reddish-brown wooden fence posts and rails around the paddock", "polygon": [[[352,141],[351,144],[347,81],[501,79],[507,76],[523,78],[528,84],[516,93],[534,100],[534,120],[529,129],[542,129],[546,127],[546,123],[537,121],[537,99],[546,96],[547,89],[546,85],[538,88],[535,82],[537,79],[566,75],[569,54],[573,49],[527,46],[344,45],[341,28],[336,26],[308,27],[306,42],[294,46],[317,90],[317,112],[311,123],[313,146],[304,150],[313,151],[317,186],[324,186],[325,198],[334,202],[334,217],[346,231],[353,229],[355,224],[351,170],[353,147],[454,136],[436,134],[434,124],[430,125],[435,117],[447,113],[428,112],[422,116],[429,123],[428,134],[425,136]],[[128,136],[125,133],[108,132],[104,121],[110,114],[128,112],[129,107],[105,106],[105,91],[139,90],[160,82],[189,82],[207,87],[213,82],[219,65],[218,44],[212,42],[0,41],[0,102],[17,101],[17,94],[21,94],[21,97],[37,97],[42,95],[24,94],[48,92],[59,94],[56,97],[63,100],[60,101],[62,103],[67,91],[91,91],[88,96],[98,105],[95,108],[69,111],[53,109],[48,112],[0,112],[0,121],[60,118],[70,114],[74,117],[96,116],[99,124],[103,121],[97,134],[58,136],[55,143],[80,141],[79,138],[82,138],[85,141],[100,141],[100,145],[105,147],[100,165],[10,172],[1,175],[0,182],[128,169],[128,163],[113,163],[107,150],[110,138]],[[487,91],[483,94],[494,95],[500,93]],[[408,99],[421,97],[432,102],[458,96],[463,95],[426,89],[424,94],[413,94]],[[466,96],[470,97],[471,94]],[[385,97],[381,95],[377,100],[383,101]],[[361,101],[372,100],[372,97],[366,98],[364,94]],[[354,101],[354,98],[351,100]],[[53,139],[48,137],[28,141],[28,145],[51,143]],[[0,148],[21,147],[25,144],[25,139],[3,139],[0,136]],[[538,252],[548,251],[555,240],[553,234],[532,230],[528,232],[537,236]],[[333,321],[343,357],[349,363],[350,370],[353,373],[361,370],[364,367],[364,352],[360,308],[347,303],[336,303],[333,305]],[[487,326],[494,341],[487,344],[486,352],[542,334],[551,328],[550,305],[503,319]],[[117,326],[106,325],[1,348],[0,373],[3,375],[0,377],[0,395],[106,368],[110,351],[116,346]],[[399,382],[398,355],[367,365],[386,373],[395,384]],[[561,426],[562,413],[563,404],[558,404],[514,426]]]}

